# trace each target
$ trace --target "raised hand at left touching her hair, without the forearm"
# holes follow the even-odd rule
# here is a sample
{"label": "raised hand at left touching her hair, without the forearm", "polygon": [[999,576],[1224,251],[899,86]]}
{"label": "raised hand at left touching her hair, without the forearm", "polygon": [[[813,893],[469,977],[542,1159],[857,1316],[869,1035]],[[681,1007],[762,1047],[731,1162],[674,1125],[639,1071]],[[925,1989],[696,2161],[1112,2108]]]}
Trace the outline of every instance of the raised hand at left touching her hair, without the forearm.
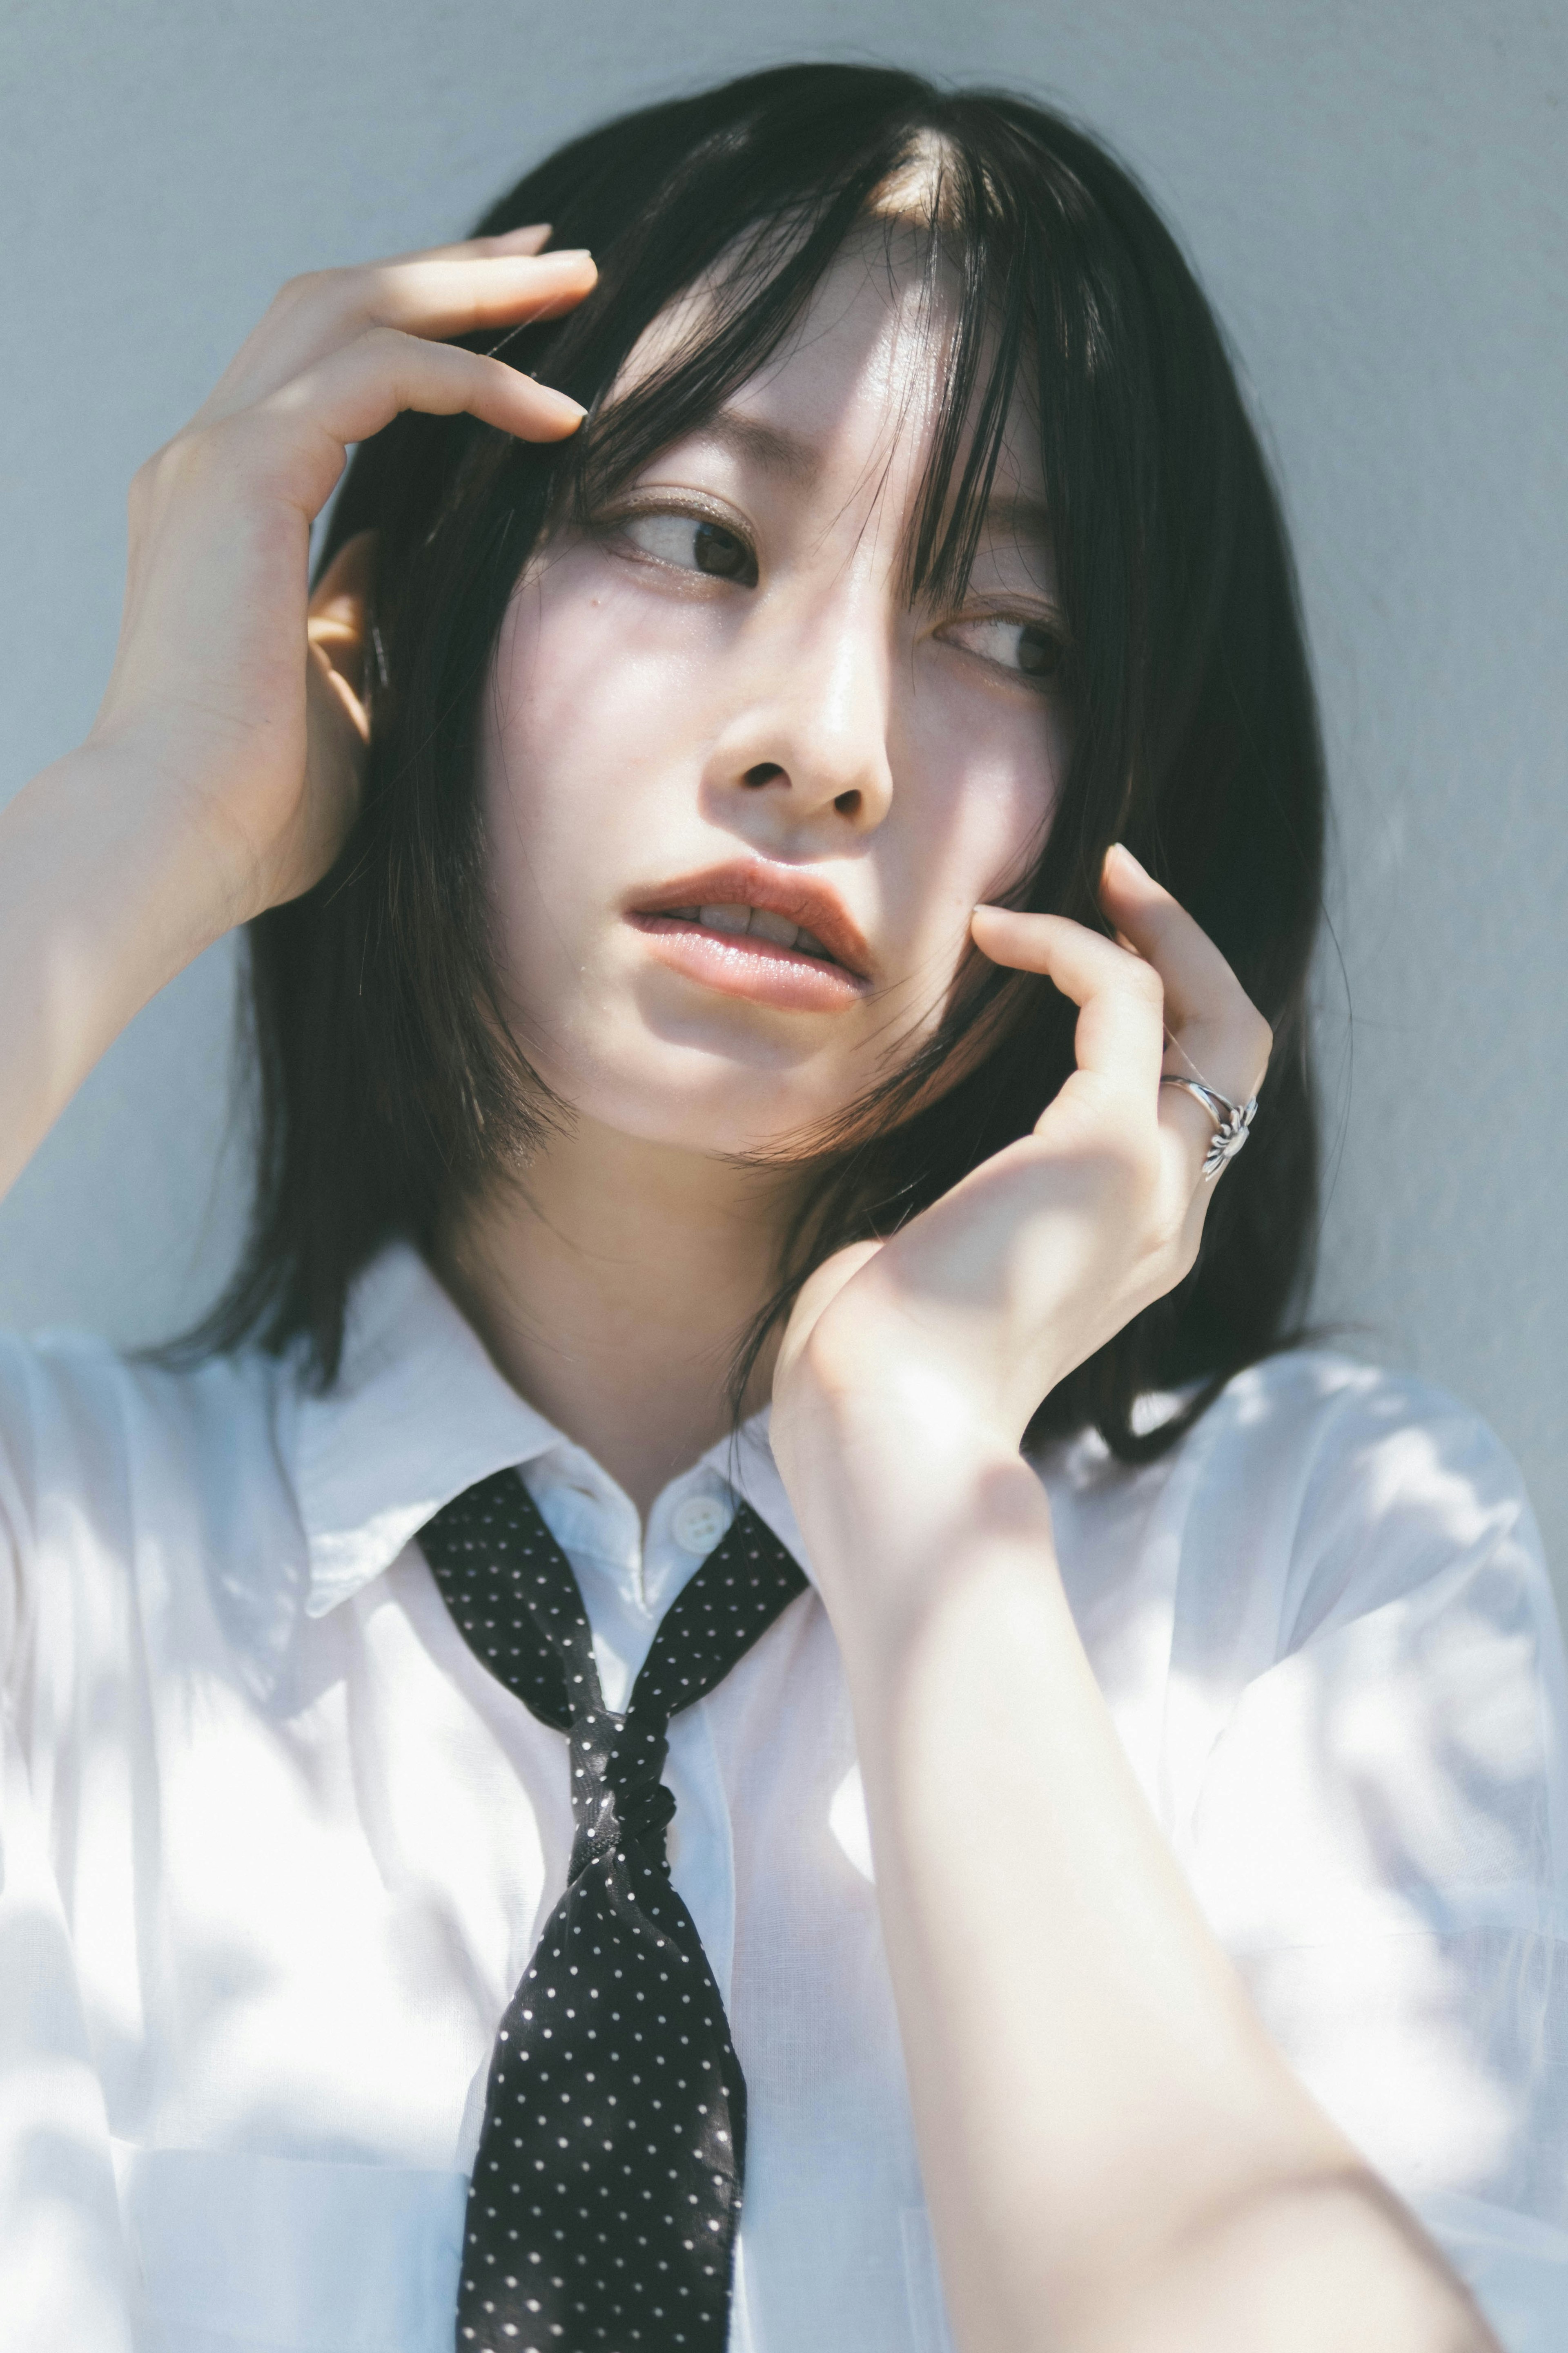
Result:
{"label": "raised hand at left touching her hair, without the forearm", "polygon": [[[353,541],[308,612],[310,525],[350,442],[400,409],[468,412],[522,440],[581,407],[440,336],[571,308],[588,254],[548,228],[292,280],[183,433],[136,473],[120,647],[87,751],[139,821],[181,842],[190,908],[216,934],[308,889],[357,798],[362,713],[343,645],[369,586]],[[167,833],[165,833],[167,828]],[[190,854],[195,852],[195,868]]]}

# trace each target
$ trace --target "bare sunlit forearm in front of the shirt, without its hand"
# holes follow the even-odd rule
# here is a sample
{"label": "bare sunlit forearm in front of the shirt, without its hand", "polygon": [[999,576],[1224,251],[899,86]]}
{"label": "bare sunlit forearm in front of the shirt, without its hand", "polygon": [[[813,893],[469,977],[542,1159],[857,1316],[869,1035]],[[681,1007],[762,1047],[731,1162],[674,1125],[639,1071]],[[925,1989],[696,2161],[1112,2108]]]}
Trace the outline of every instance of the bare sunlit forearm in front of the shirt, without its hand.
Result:
{"label": "bare sunlit forearm in front of the shirt, without its hand", "polygon": [[1034,1473],[940,1412],[844,1407],[837,1447],[856,1478],[818,1492],[806,1534],[842,1595],[959,2344],[1479,2353],[1467,2297],[1208,1934],[1084,1659]]}

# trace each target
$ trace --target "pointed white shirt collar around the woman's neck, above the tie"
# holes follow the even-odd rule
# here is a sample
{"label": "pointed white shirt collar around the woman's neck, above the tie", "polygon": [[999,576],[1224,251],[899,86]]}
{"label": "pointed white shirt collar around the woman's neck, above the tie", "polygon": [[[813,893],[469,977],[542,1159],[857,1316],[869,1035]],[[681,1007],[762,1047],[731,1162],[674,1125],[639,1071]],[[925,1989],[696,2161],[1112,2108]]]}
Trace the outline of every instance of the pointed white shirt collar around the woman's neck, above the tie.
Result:
{"label": "pointed white shirt collar around the woman's neck, above the tie", "polygon": [[[764,1409],[693,1468],[712,1468],[809,1574],[766,1426]],[[496,1369],[418,1252],[393,1242],[353,1287],[339,1379],[296,1395],[306,1614],[327,1617],[381,1577],[475,1480],[564,1447],[555,1424]]]}

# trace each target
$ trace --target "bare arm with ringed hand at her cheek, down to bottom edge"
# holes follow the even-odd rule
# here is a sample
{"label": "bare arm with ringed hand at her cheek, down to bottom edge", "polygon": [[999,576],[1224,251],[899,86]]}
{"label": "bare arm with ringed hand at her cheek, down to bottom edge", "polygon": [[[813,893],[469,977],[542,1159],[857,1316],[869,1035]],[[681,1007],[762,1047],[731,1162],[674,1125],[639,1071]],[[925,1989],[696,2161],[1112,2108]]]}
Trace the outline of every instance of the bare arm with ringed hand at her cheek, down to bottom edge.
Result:
{"label": "bare arm with ringed hand at her cheek, down to bottom edge", "polygon": [[1018,1454],[1032,1400],[1197,1247],[1206,1122],[1159,1094],[1161,1012],[1239,1094],[1267,1049],[1131,861],[1107,908],[1147,962],[1051,918],[983,920],[1084,1007],[1077,1080],[1025,1146],[820,1271],[776,1384],[954,2327],[969,2353],[1481,2353],[1469,2297],[1211,1937]]}

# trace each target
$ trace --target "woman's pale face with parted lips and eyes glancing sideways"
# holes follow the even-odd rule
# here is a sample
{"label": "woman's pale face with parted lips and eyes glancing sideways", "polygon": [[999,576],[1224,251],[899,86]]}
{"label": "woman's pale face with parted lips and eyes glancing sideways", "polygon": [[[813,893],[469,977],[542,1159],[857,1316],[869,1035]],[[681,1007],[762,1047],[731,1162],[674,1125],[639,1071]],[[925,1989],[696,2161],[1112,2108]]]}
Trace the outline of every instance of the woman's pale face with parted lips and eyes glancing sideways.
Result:
{"label": "woman's pale face with parted lips and eyes glancing sideways", "polygon": [[625,1134],[750,1153],[844,1111],[1039,852],[1065,760],[1039,461],[1018,421],[961,605],[910,609],[926,329],[914,268],[849,247],[780,358],[508,609],[482,736],[508,1014]]}

